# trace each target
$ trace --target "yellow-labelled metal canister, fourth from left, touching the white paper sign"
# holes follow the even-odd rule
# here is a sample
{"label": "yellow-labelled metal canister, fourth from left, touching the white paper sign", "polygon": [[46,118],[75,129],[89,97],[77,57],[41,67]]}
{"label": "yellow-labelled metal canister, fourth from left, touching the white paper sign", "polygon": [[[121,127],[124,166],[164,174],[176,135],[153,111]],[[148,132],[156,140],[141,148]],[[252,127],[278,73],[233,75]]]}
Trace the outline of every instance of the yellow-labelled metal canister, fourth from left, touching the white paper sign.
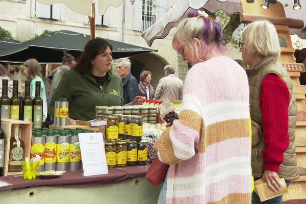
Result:
{"label": "yellow-labelled metal canister, fourth from left, touching the white paper sign", "polygon": [[69,171],[75,171],[80,169],[80,142],[79,131],[73,130],[70,136],[69,144]]}

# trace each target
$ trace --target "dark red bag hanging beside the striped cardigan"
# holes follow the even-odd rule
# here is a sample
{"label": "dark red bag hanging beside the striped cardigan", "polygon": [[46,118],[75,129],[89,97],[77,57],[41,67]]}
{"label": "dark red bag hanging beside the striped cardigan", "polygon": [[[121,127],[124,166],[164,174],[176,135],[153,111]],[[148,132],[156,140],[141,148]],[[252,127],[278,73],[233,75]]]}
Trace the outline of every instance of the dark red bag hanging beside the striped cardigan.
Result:
{"label": "dark red bag hanging beside the striped cardigan", "polygon": [[148,172],[145,174],[145,178],[152,185],[160,185],[165,181],[165,177],[168,171],[169,165],[161,162],[158,157],[153,160]]}

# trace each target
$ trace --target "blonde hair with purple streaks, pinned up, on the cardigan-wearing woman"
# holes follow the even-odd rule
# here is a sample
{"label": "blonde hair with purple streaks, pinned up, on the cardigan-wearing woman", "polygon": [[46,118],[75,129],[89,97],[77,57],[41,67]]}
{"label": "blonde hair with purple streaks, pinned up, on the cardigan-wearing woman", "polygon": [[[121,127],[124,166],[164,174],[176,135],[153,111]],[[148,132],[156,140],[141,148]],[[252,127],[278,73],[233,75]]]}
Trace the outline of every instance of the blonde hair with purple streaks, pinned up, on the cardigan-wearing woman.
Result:
{"label": "blonde hair with purple streaks, pinned up, on the cardigan-wearing woman", "polygon": [[[202,43],[202,50],[198,50],[197,38]],[[177,32],[173,36],[172,47],[179,51],[182,46],[188,46],[191,50],[192,58],[205,61],[209,54],[225,55],[225,44],[222,35],[222,27],[214,19],[201,15],[198,11],[188,13],[188,18],[184,19],[177,26]],[[194,56],[195,55],[195,56]]]}

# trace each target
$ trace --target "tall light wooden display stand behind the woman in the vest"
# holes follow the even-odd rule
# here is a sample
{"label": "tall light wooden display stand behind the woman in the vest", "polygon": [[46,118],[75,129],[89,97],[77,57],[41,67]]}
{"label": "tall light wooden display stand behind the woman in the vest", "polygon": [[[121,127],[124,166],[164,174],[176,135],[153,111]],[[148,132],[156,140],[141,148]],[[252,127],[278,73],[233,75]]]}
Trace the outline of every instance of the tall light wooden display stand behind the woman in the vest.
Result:
{"label": "tall light wooden display stand behind the woman in the vest", "polygon": [[[305,72],[303,64],[296,64],[294,58],[294,48],[292,47],[289,28],[302,29],[303,21],[299,19],[286,18],[283,4],[269,4],[269,9],[263,9],[261,4],[264,0],[257,0],[253,3],[247,3],[241,0],[242,11],[240,20],[243,23],[249,23],[255,20],[269,20],[277,30],[280,38],[285,39],[287,47],[281,47],[281,57],[278,59],[287,69],[293,83],[293,92],[296,98],[298,109],[298,121],[295,131],[296,157],[299,166],[300,177],[298,180],[291,182],[289,191],[283,196],[283,200],[305,199],[306,198],[306,103],[305,94],[306,86],[300,85],[300,73]],[[303,120],[302,120],[303,119]]]}

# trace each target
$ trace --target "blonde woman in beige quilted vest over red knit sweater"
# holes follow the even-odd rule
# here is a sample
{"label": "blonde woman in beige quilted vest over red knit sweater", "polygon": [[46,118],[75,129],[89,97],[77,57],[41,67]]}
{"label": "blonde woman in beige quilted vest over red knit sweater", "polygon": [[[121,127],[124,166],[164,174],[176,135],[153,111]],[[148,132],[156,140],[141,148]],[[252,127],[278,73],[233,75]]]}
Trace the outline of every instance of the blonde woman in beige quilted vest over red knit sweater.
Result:
{"label": "blonde woman in beige quilted vest over red knit sweater", "polygon": [[[260,31],[260,32],[258,32]],[[242,31],[240,52],[250,88],[250,116],[258,123],[262,135],[252,137],[252,173],[254,180],[263,178],[274,192],[281,189],[278,177],[287,187],[299,177],[295,155],[297,109],[293,84],[286,69],[277,59],[281,47],[274,25],[254,21]],[[254,139],[259,138],[257,141]],[[281,203],[282,196],[261,202],[253,192],[252,204]]]}

